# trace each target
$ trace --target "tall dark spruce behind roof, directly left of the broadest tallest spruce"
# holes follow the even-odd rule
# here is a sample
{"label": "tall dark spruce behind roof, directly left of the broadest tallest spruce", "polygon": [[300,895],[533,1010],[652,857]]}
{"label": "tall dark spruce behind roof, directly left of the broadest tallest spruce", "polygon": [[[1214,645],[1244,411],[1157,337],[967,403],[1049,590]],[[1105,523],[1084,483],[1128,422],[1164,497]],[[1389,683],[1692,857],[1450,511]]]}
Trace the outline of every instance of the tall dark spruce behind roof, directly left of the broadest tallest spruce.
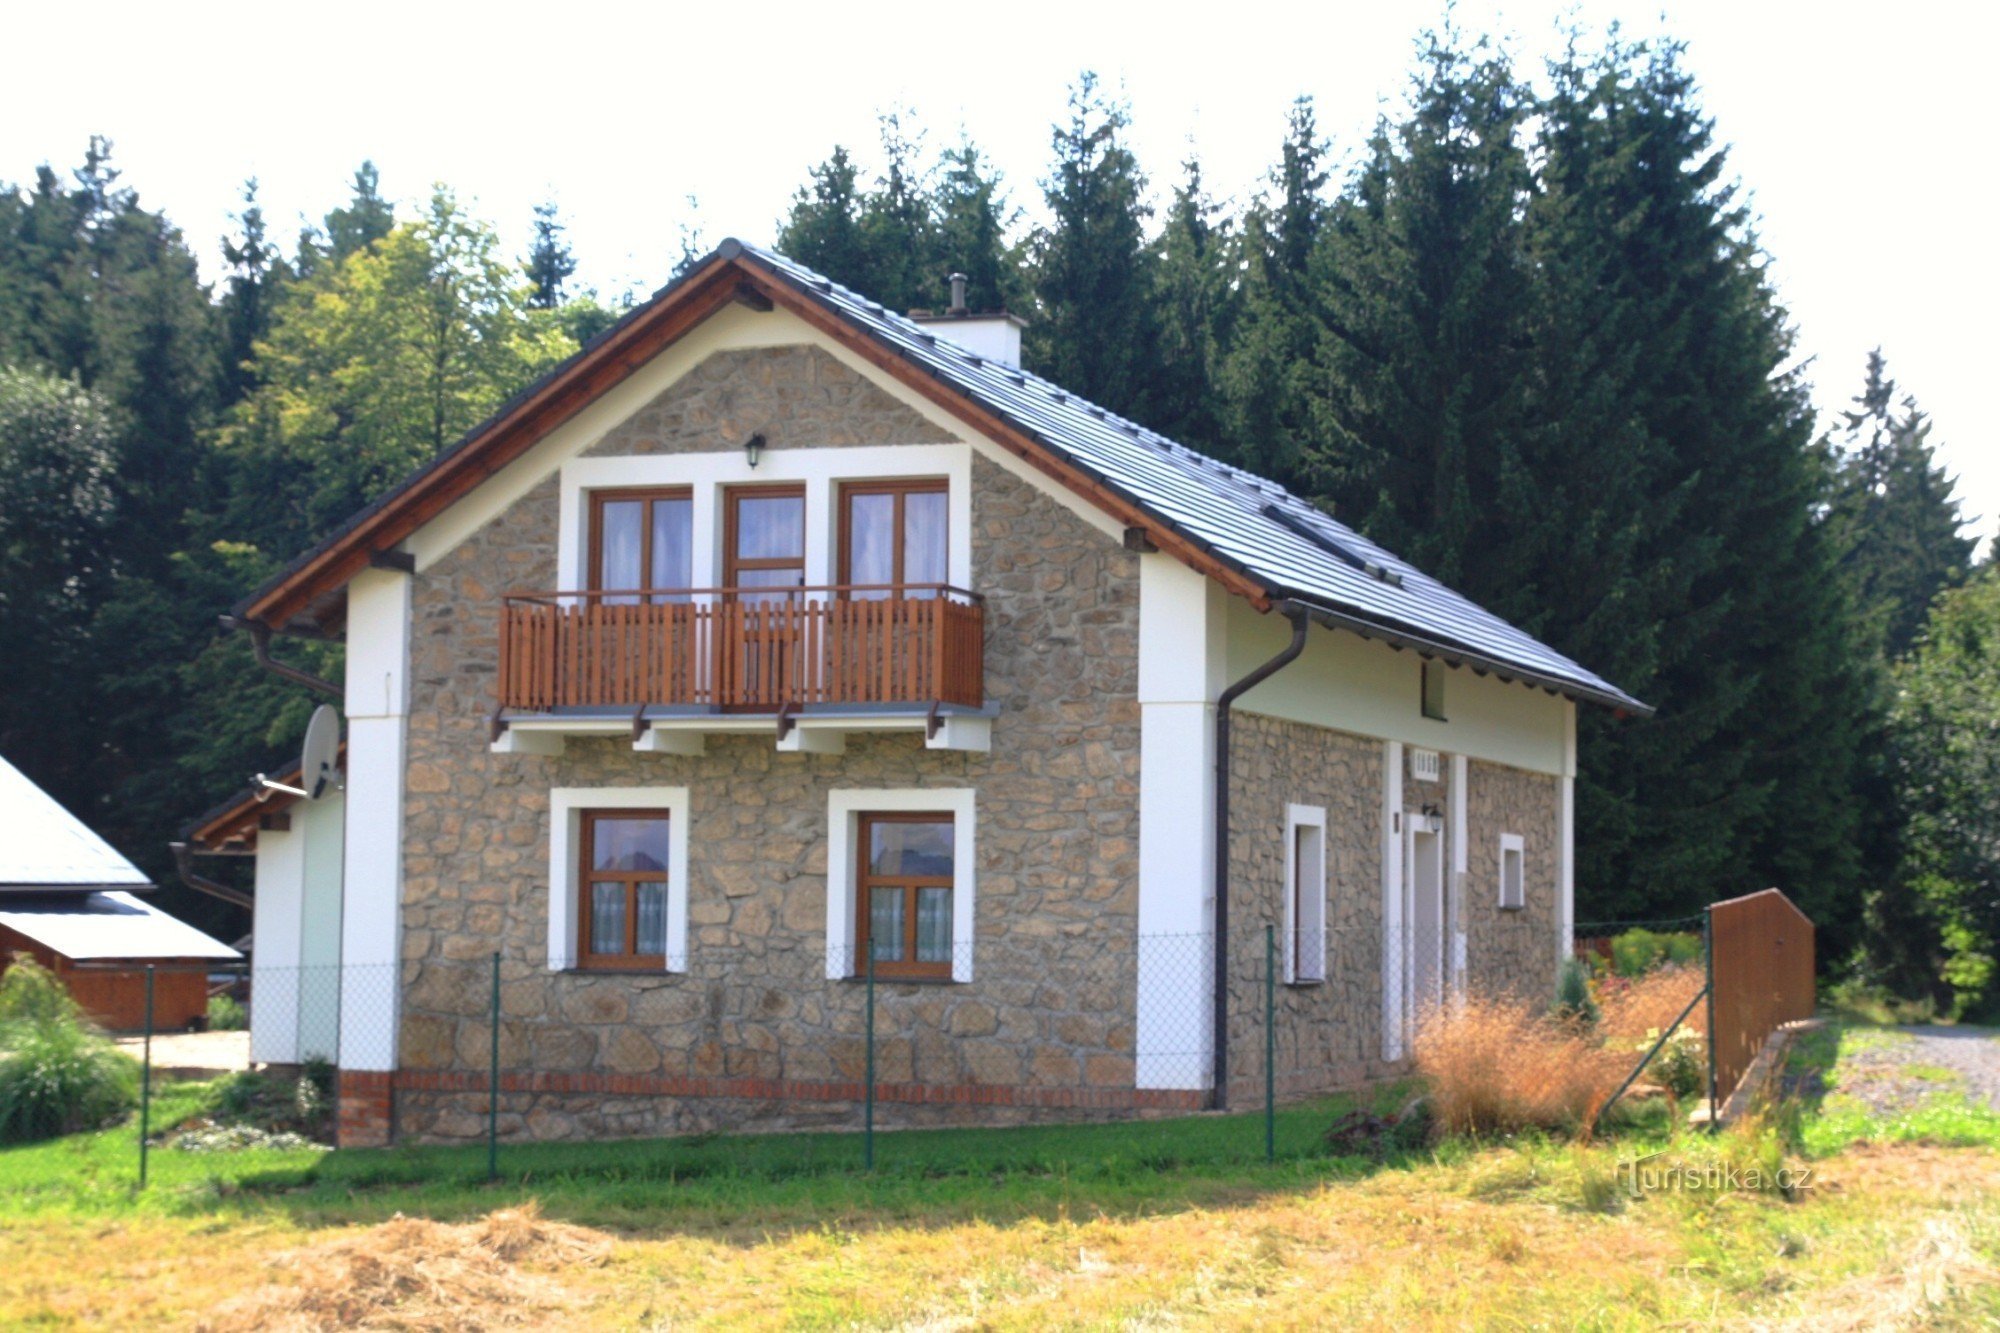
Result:
{"label": "tall dark spruce behind roof, directly left of the broadest tallest spruce", "polygon": [[1316,254],[1316,448],[1300,470],[1456,586],[1478,570],[1524,422],[1526,110],[1504,58],[1426,34],[1410,114],[1376,128]]}

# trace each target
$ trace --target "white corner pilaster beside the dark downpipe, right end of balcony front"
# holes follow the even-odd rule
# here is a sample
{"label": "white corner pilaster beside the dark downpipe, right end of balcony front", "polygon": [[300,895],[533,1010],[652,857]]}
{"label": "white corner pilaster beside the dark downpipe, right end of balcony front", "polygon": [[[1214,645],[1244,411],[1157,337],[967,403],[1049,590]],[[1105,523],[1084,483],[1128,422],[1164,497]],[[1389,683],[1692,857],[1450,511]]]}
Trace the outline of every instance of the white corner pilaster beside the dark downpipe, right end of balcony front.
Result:
{"label": "white corner pilaster beside the dark downpipe, right end of balcony front", "polygon": [[1138,1087],[1214,1075],[1214,701],[1226,592],[1170,554],[1138,580]]}

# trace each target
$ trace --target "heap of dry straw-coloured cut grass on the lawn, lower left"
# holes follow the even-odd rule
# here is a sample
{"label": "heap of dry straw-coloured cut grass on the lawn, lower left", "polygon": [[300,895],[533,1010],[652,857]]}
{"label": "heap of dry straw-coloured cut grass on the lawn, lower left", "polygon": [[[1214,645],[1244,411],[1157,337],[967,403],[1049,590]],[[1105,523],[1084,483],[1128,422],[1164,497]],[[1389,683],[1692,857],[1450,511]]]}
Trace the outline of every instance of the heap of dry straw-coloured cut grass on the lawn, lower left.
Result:
{"label": "heap of dry straw-coloured cut grass on the lawn, lower left", "polygon": [[396,1217],[280,1255],[274,1281],[216,1311],[212,1333],[502,1329],[570,1305],[562,1269],[602,1265],[612,1239],[534,1203],[448,1225]]}

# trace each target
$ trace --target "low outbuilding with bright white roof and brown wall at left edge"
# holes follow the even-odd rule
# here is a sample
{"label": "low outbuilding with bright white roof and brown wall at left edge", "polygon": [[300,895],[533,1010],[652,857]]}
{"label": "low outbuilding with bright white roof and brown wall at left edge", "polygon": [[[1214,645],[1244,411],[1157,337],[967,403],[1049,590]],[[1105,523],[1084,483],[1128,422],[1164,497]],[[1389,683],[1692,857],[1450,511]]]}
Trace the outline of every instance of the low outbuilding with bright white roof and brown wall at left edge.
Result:
{"label": "low outbuilding with bright white roof and brown wall at left edge", "polygon": [[0,759],[0,973],[26,955],[114,1031],[184,1029],[208,1017],[208,963],[242,955],[136,895],[152,881],[54,797]]}

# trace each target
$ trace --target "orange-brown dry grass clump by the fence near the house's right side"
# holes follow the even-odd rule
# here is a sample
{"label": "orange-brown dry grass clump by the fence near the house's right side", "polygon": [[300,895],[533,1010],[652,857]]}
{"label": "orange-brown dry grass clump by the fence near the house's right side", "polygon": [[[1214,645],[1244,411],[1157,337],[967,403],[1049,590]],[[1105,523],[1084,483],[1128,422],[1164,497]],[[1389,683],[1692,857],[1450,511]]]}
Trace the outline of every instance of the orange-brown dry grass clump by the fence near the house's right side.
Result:
{"label": "orange-brown dry grass clump by the fence near the house's right side", "polygon": [[1432,1011],[1412,1055],[1438,1135],[1588,1125],[1636,1059],[1574,1021],[1476,997]]}

